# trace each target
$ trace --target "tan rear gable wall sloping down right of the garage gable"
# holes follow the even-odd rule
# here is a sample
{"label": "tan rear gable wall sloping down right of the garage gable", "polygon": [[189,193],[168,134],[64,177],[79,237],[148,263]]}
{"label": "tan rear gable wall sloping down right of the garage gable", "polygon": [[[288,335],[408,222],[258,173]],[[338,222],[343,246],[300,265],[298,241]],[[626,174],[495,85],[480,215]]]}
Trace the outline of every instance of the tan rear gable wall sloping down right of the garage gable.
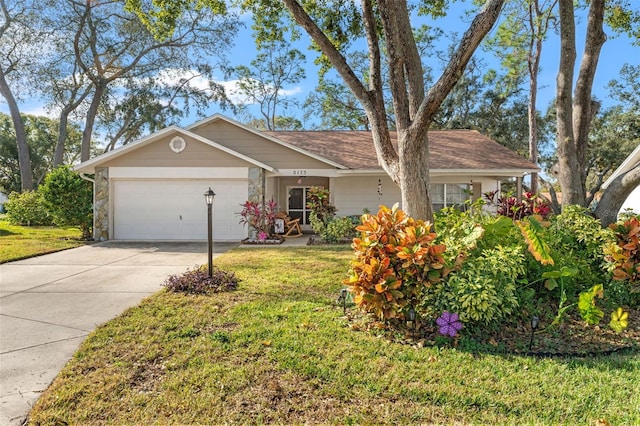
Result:
{"label": "tan rear gable wall sloping down right of the garage gable", "polygon": [[335,168],[223,120],[206,123],[190,130],[276,169]]}

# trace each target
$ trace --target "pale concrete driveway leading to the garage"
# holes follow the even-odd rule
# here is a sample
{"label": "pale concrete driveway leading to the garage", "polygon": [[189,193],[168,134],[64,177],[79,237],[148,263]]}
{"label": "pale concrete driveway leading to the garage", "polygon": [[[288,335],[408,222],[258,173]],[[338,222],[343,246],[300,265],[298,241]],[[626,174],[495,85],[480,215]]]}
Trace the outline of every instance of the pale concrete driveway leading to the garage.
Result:
{"label": "pale concrete driveway leading to the garage", "polygon": [[206,262],[206,242],[104,242],[0,265],[0,425],[22,424],[97,325]]}

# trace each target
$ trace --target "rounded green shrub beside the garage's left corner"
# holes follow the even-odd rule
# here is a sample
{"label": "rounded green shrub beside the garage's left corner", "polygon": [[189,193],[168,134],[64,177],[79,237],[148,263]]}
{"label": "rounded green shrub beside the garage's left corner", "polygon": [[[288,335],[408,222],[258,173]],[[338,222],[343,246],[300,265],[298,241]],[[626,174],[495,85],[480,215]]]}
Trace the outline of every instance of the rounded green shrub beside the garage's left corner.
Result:
{"label": "rounded green shrub beside the garage's left corner", "polygon": [[69,166],[53,170],[39,188],[47,210],[58,226],[77,226],[85,239],[93,226],[93,188]]}

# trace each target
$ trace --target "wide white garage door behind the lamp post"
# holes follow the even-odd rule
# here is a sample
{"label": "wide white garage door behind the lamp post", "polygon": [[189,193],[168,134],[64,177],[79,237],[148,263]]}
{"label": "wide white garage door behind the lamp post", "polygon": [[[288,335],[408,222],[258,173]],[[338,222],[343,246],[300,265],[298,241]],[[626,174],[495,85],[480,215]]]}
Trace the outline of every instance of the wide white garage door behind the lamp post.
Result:
{"label": "wide white garage door behind the lamp post", "polygon": [[113,238],[116,240],[206,240],[211,187],[214,241],[238,241],[246,229],[236,215],[247,200],[246,180],[116,180]]}

